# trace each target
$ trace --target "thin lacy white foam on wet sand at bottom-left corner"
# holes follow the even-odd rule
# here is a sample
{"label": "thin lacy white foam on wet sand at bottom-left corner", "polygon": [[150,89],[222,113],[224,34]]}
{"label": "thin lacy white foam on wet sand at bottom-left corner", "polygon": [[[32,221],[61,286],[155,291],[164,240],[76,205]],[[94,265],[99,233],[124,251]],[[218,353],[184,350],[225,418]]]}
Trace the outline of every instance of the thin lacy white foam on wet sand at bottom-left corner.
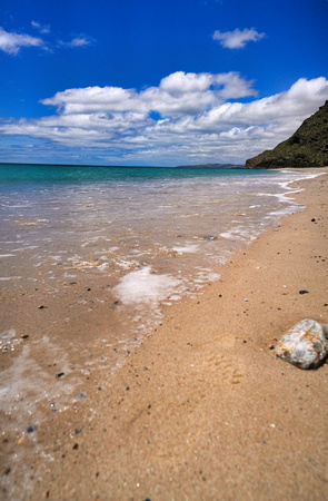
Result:
{"label": "thin lacy white foam on wet sand at bottom-left corner", "polygon": [[[11,328],[1,333],[0,338],[12,343],[17,340],[16,331]],[[28,343],[23,344],[21,352],[12,358],[11,366],[0,372],[2,440],[11,442],[13,438],[20,436],[19,440],[22,442],[27,440],[28,444],[27,448],[10,448],[12,452],[6,456],[10,475],[2,475],[1,482],[4,480],[8,499],[23,499],[32,489],[34,471],[30,468],[30,455],[38,454],[43,458],[43,462],[52,460],[52,456],[46,451],[47,448],[44,450],[37,439],[38,426],[46,414],[62,412],[80,400],[80,396],[74,397],[73,393],[82,381],[82,376],[69,374],[71,371],[67,353],[50,343],[46,336],[38,342]],[[52,371],[47,369],[46,364],[42,367],[34,357],[34,350],[41,352],[44,357],[57,360],[58,371],[64,373],[63,377],[57,379],[53,367]],[[69,375],[68,380],[67,375]],[[36,433],[29,433],[30,426],[34,429]],[[41,471],[38,472],[38,475],[40,479]],[[23,485],[23,491],[21,491],[20,483]],[[23,498],[21,497],[22,492],[26,494]],[[17,493],[19,494],[16,495]]]}

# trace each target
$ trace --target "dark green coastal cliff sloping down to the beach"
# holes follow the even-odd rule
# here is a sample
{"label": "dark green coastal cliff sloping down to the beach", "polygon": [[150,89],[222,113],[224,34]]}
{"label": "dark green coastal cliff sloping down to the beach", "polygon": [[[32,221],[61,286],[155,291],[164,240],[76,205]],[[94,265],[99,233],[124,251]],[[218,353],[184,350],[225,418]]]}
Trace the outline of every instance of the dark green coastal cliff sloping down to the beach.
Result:
{"label": "dark green coastal cliff sloping down to the beach", "polygon": [[249,158],[243,168],[325,167],[328,165],[328,100],[275,149]]}

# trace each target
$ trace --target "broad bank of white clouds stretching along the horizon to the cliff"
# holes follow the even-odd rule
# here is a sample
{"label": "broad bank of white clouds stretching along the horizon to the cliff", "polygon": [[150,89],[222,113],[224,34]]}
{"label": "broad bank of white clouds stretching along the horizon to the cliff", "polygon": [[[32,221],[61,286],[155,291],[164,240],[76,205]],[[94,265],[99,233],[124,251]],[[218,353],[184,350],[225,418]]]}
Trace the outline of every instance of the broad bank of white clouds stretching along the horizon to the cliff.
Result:
{"label": "broad bank of white clouds stretching along the horizon to the cliff", "polygon": [[[243,102],[245,97],[251,100]],[[99,163],[242,163],[289,137],[326,99],[324,77],[301,78],[285,92],[258,99],[252,82],[238,73],[178,71],[141,91],[57,92],[41,101],[56,107],[53,115],[3,120],[0,132],[50,140],[67,148],[68,158],[89,151]]]}

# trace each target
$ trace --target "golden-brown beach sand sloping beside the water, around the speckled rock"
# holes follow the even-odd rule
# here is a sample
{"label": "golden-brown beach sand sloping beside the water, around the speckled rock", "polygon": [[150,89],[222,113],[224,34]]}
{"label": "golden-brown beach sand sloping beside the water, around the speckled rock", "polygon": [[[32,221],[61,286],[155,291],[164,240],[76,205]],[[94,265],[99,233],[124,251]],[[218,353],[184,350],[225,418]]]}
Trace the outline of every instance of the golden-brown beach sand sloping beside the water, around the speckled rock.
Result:
{"label": "golden-brown beach sand sloping beside the water, around the speckled rock", "polygon": [[328,323],[328,176],[297,186],[305,210],[167,307],[108,384],[90,376],[88,399],[6,443],[29,462],[16,498],[327,499],[328,365],[301,371],[272,348],[302,318]]}

